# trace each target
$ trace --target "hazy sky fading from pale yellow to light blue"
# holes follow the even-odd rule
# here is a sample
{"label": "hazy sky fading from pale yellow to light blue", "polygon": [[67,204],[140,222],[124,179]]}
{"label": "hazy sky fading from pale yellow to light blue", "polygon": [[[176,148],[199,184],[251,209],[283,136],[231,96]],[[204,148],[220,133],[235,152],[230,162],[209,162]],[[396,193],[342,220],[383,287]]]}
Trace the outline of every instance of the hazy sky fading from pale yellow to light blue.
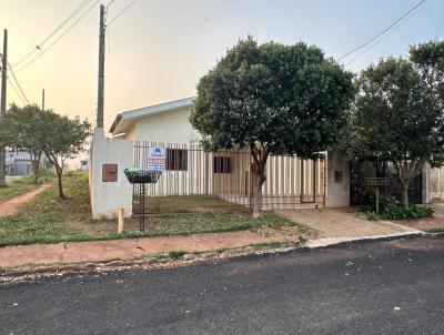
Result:
{"label": "hazy sky fading from pale yellow to light blue", "polygon": [[[87,8],[94,1],[90,0]],[[109,8],[109,20],[131,1],[114,0]],[[82,2],[0,0],[0,29],[1,34],[4,28],[9,30],[10,63],[13,65],[32,51]],[[302,40],[321,47],[326,55],[339,58],[386,28],[417,2],[137,0],[108,29],[105,129],[108,131],[119,112],[194,95],[199,79],[214,67],[228,48],[248,34],[260,42]],[[94,121],[99,3],[41,58],[17,73],[31,102],[40,104],[44,88],[47,108]],[[381,57],[405,54],[412,43],[442,39],[443,13],[444,0],[428,0],[415,16],[367,53],[350,64],[347,62],[354,55],[345,59],[345,68],[359,71]],[[17,65],[16,71],[23,64],[26,62]],[[22,104],[11,87],[8,101]]]}

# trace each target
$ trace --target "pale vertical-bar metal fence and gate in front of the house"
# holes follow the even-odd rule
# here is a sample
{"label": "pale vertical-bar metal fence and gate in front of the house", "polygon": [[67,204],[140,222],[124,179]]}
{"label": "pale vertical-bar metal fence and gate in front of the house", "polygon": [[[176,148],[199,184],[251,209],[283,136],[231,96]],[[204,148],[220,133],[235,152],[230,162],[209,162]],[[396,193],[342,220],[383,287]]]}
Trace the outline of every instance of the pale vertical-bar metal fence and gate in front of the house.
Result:
{"label": "pale vertical-bar metal fence and gate in front of the house", "polygon": [[[148,170],[149,148],[167,149],[165,171],[145,189],[147,214],[245,211],[254,201],[256,176],[248,150],[205,152],[199,144],[134,142],[134,166]],[[265,169],[263,209],[323,205],[323,160],[272,155]],[[133,213],[140,214],[140,189],[133,189]]]}

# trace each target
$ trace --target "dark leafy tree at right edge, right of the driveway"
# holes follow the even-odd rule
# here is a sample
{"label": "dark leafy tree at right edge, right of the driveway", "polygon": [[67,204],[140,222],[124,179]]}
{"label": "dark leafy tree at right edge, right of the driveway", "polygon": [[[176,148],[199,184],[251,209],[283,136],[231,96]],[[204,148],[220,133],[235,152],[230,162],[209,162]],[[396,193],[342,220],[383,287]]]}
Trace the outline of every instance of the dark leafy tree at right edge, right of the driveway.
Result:
{"label": "dark leafy tree at right edge, right of the driveway", "polygon": [[392,162],[401,183],[402,204],[425,162],[443,162],[443,111],[412,62],[389,58],[362,71],[351,110],[351,159]]}

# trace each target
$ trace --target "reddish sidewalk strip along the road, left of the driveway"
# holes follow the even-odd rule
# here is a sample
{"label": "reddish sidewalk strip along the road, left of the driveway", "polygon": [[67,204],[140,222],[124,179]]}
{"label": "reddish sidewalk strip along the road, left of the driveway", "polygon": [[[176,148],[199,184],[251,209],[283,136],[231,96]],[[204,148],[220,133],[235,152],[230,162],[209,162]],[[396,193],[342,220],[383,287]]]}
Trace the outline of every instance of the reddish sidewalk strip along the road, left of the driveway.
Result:
{"label": "reddish sidewalk strip along the road, left of the driveway", "polygon": [[265,237],[253,232],[229,232],[190,236],[72,242],[0,247],[0,267],[23,264],[53,264],[131,260],[145,254],[185,251],[209,252],[251,244],[286,242],[285,236]]}

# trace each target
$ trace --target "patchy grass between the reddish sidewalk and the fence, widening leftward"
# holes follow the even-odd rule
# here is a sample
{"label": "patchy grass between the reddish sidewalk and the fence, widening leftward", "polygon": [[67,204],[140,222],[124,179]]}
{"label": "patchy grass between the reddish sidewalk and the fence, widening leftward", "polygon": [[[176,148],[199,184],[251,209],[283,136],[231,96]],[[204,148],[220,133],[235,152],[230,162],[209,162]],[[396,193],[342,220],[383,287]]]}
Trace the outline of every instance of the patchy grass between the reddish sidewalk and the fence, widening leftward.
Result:
{"label": "patchy grass between the reddish sidewalk and the fence, widening leftward", "polygon": [[[206,202],[206,212],[198,214],[167,214],[150,216],[145,224],[145,232],[137,232],[137,220],[125,220],[125,232],[117,234],[115,220],[91,219],[89,204],[88,174],[84,172],[68,172],[63,176],[67,200],[59,200],[57,184],[40,193],[26,205],[18,214],[0,217],[0,246],[60,243],[73,241],[117,240],[141,236],[189,235],[196,233],[214,233],[244,230],[259,230],[261,227],[293,227],[301,232],[306,227],[279,217],[271,212],[265,212],[255,220],[248,211],[226,213],[211,211],[210,203],[215,203],[212,197]],[[202,196],[188,197],[189,207],[202,207],[205,200]],[[220,209],[221,201],[215,203]],[[165,204],[167,205],[167,204]],[[235,205],[238,206],[238,205]],[[210,212],[211,211],[211,212]]]}

